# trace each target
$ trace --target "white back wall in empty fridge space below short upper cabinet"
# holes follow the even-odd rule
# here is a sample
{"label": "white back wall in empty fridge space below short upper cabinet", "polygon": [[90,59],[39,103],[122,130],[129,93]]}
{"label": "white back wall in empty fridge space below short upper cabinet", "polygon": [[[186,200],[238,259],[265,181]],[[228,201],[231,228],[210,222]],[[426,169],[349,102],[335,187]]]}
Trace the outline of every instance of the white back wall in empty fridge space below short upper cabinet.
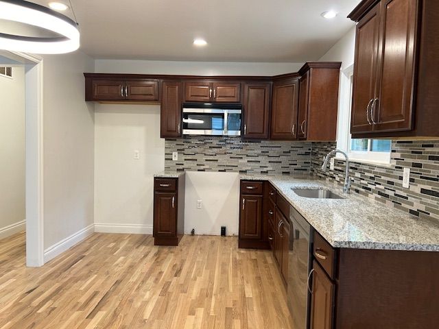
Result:
{"label": "white back wall in empty fridge space below short upper cabinet", "polygon": [[96,104],[96,232],[152,234],[153,175],[163,169],[160,106]]}

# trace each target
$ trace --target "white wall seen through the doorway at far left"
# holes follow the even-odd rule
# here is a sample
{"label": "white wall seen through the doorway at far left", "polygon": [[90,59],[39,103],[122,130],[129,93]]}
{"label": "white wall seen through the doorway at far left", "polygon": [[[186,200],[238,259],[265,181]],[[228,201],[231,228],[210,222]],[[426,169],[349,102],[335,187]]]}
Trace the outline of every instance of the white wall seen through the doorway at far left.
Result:
{"label": "white wall seen through the doorway at far left", "polygon": [[0,76],[0,239],[25,228],[25,70]]}

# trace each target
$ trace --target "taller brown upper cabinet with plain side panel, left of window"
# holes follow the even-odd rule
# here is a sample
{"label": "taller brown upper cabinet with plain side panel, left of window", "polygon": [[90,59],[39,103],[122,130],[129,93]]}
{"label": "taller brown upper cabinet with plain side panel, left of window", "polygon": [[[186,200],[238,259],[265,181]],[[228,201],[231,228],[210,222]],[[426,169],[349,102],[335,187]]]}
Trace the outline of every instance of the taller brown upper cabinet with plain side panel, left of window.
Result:
{"label": "taller brown upper cabinet with plain side panel, left of window", "polygon": [[335,141],[340,66],[340,62],[309,62],[300,69],[299,139]]}

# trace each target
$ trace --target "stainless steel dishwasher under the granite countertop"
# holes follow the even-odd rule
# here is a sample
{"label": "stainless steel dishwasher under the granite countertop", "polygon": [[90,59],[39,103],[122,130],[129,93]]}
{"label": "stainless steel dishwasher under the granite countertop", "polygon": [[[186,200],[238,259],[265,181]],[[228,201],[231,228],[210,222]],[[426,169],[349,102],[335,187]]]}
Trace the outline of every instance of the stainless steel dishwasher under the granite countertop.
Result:
{"label": "stainless steel dishwasher under the granite countertop", "polygon": [[308,273],[311,271],[311,226],[292,206],[289,207],[288,307],[293,328],[306,329],[309,324]]}

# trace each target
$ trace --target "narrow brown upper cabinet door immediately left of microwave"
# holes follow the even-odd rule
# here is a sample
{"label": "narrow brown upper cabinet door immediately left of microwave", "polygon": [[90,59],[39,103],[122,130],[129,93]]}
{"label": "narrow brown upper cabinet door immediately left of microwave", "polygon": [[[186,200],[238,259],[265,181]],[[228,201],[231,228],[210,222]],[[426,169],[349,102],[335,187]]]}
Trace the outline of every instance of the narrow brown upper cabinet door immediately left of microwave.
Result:
{"label": "narrow brown upper cabinet door immediately left of microwave", "polygon": [[181,136],[181,82],[163,82],[160,112],[160,136]]}

